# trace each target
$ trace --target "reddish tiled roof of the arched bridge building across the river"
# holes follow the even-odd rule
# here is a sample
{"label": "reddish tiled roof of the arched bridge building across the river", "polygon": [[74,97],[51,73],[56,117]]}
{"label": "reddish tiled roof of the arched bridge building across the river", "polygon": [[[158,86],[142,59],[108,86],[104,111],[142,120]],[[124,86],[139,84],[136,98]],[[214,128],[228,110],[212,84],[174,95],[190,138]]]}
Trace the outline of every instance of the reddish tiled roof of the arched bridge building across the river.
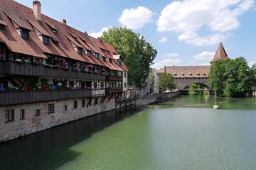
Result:
{"label": "reddish tiled roof of the arched bridge building across the river", "polygon": [[[210,66],[166,66],[166,73],[171,73],[174,78],[183,78],[183,77],[208,77],[210,72]],[[157,74],[165,72],[164,68],[159,69]]]}

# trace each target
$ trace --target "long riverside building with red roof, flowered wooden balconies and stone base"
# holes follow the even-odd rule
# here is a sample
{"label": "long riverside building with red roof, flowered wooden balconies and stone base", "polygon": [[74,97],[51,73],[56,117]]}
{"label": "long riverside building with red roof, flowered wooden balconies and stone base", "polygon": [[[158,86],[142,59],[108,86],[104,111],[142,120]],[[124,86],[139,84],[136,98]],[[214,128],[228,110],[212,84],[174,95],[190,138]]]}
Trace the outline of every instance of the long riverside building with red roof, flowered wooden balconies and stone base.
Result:
{"label": "long riverside building with red roof, flowered wooden balconies and stone base", "polygon": [[0,142],[112,110],[127,72],[112,45],[43,15],[39,1],[0,0]]}

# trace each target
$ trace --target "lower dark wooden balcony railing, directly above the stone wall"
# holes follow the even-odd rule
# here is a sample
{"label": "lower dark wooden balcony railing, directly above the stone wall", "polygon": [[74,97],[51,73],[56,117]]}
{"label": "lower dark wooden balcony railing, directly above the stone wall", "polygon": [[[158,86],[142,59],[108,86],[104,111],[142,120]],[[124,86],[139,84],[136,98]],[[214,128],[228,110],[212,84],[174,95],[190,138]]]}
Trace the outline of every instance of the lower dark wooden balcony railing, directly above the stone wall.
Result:
{"label": "lower dark wooden balcony railing, directly above the stone wall", "polygon": [[0,106],[87,97],[92,97],[92,90],[5,91],[0,92]]}

